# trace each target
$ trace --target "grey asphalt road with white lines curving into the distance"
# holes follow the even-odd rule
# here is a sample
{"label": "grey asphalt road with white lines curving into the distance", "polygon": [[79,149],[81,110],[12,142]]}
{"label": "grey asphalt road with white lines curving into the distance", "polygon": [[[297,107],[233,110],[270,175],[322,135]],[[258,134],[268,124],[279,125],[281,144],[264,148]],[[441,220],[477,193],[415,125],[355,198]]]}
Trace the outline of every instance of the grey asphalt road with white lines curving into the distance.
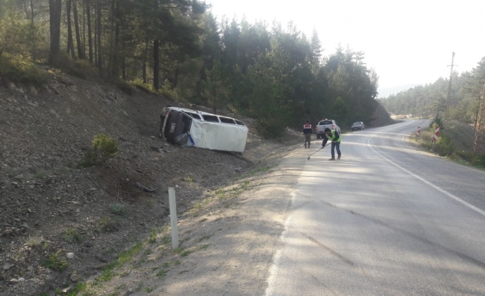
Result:
{"label": "grey asphalt road with white lines curving into the distance", "polygon": [[485,295],[485,172],[408,146],[417,126],[307,161],[266,295]]}

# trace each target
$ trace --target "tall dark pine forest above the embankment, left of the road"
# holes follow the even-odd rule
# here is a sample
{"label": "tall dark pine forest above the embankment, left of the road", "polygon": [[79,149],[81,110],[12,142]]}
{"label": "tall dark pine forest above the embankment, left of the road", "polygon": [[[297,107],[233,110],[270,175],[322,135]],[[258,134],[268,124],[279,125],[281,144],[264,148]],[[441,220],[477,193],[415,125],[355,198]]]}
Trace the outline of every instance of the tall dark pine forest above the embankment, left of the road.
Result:
{"label": "tall dark pine forest above the embankment, left of the road", "polygon": [[142,85],[254,117],[266,137],[304,119],[367,122],[377,104],[362,52],[324,56],[316,31],[218,20],[199,0],[0,0],[0,66],[16,82],[61,69]]}

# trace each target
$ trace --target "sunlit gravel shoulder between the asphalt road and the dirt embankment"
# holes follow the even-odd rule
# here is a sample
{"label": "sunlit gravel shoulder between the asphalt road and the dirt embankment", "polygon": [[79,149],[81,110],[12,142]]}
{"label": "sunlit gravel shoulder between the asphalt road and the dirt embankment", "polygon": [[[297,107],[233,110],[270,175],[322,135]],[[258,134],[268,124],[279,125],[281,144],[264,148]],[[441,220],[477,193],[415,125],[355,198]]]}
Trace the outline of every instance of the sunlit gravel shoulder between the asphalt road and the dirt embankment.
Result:
{"label": "sunlit gravel shoulder between the asphalt road and the dirt embankment", "polygon": [[264,295],[292,193],[313,151],[293,146],[243,179],[207,193],[180,217],[177,252],[167,243],[169,230],[157,231],[153,244],[144,242],[132,263],[116,269],[95,292]]}

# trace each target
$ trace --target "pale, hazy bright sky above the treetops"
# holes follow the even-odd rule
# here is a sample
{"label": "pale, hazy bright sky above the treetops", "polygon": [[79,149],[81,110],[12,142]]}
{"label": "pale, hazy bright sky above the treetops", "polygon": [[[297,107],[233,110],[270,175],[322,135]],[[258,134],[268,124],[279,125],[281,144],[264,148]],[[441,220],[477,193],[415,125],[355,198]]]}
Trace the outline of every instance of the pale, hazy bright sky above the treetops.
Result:
{"label": "pale, hazy bright sky above the treetops", "polygon": [[[339,45],[364,52],[379,89],[427,84],[459,73],[485,56],[485,0],[206,0],[212,13],[282,23],[309,38],[318,32],[324,55]],[[407,88],[406,87],[406,88]]]}

